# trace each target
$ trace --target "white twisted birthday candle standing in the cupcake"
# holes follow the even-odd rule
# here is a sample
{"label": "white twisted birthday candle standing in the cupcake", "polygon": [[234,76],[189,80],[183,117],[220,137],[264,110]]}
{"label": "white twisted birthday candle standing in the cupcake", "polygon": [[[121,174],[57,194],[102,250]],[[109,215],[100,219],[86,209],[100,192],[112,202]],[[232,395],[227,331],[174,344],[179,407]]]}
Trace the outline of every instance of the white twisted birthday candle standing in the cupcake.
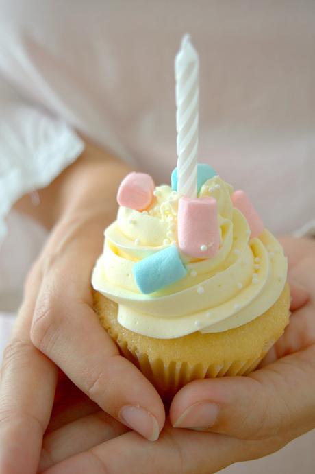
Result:
{"label": "white twisted birthday candle standing in the cupcake", "polygon": [[184,36],[175,58],[177,191],[188,198],[197,197],[199,58]]}

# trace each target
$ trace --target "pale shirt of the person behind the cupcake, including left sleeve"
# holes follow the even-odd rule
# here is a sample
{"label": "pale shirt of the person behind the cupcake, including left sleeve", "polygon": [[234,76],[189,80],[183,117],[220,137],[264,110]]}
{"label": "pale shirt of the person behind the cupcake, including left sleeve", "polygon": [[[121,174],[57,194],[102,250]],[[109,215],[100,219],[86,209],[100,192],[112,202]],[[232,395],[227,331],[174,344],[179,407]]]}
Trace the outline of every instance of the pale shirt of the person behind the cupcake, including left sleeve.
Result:
{"label": "pale shirt of the person behind the cupcake, including left sleeve", "polygon": [[[0,11],[1,89],[15,94],[0,93],[4,202],[77,157],[73,130],[169,181],[173,60],[189,32],[199,161],[247,191],[275,233],[314,219],[314,1],[0,0]],[[14,167],[33,182],[10,182]]]}

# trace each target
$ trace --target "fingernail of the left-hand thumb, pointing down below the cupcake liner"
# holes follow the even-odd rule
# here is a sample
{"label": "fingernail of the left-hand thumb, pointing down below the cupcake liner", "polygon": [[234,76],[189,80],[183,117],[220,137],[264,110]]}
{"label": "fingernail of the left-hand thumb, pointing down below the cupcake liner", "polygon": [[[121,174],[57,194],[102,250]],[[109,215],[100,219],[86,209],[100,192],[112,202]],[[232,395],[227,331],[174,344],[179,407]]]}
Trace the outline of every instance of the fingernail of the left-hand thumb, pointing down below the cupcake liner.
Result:
{"label": "fingernail of the left-hand thumb, pointing down below the cupcake liner", "polygon": [[160,429],[157,419],[147,410],[131,405],[123,407],[119,417],[124,425],[137,431],[149,441],[156,441],[159,438]]}

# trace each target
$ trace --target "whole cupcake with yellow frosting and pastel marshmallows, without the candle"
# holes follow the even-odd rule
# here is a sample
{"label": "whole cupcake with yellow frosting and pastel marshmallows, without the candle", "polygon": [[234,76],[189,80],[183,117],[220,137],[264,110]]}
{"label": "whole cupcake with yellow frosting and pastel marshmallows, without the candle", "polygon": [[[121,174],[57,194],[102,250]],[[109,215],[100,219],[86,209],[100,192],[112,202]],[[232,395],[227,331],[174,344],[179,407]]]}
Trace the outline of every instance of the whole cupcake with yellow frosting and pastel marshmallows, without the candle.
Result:
{"label": "whole cupcake with yellow frosting and pastel marshmallows, without the candle", "polygon": [[198,165],[197,198],[131,173],[92,273],[101,324],[164,399],[247,375],[290,315],[287,260],[244,191]]}

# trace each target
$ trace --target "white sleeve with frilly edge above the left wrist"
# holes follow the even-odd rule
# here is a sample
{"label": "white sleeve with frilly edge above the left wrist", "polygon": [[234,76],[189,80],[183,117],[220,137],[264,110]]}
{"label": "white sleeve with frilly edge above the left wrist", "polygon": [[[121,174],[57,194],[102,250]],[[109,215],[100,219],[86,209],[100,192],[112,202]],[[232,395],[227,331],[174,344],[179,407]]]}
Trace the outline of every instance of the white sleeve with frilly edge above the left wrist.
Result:
{"label": "white sleeve with frilly edge above the left wrist", "polygon": [[49,185],[83,150],[66,123],[28,103],[0,77],[0,242],[12,204]]}

